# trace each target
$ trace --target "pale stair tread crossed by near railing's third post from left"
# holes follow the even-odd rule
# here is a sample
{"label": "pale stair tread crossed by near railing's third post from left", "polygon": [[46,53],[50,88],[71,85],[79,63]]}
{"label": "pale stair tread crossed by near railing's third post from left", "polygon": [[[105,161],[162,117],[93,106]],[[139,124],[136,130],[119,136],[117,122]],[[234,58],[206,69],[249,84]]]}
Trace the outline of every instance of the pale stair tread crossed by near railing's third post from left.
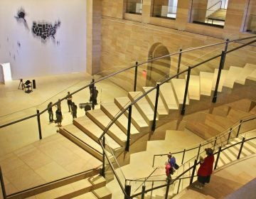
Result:
{"label": "pale stair tread crossed by near railing's third post from left", "polygon": [[[150,90],[152,87],[142,87],[142,89],[144,90],[144,93],[147,90]],[[151,102],[151,107],[152,109],[154,108],[154,104],[156,102],[156,90],[152,90],[151,92],[149,92],[149,94],[147,95],[149,97],[149,101]],[[166,107],[164,106],[164,102],[161,99],[161,96],[159,95],[159,99],[158,99],[158,104],[157,104],[157,113],[159,115],[167,115],[169,112],[166,110]]]}

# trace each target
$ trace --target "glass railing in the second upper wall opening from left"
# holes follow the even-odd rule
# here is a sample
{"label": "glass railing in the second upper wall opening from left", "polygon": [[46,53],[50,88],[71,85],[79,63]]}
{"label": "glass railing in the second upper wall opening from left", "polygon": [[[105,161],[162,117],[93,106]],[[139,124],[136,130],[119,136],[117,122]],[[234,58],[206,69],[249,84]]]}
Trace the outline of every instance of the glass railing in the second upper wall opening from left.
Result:
{"label": "glass railing in the second upper wall opening from left", "polygon": [[176,14],[176,6],[154,6],[152,16],[175,19]]}

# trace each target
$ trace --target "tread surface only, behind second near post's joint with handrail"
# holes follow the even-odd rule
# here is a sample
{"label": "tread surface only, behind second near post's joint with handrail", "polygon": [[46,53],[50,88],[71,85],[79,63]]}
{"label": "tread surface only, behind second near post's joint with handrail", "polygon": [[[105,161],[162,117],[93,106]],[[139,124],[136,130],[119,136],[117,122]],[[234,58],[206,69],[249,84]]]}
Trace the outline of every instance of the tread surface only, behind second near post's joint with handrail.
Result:
{"label": "tread surface only, behind second near post's joint with handrail", "polygon": [[[131,102],[129,97],[116,97],[114,101],[116,104],[119,104],[122,107],[127,107],[127,104]],[[142,114],[140,114],[139,110],[134,106],[132,107],[132,119],[141,128],[149,127],[145,119],[142,117]]]}

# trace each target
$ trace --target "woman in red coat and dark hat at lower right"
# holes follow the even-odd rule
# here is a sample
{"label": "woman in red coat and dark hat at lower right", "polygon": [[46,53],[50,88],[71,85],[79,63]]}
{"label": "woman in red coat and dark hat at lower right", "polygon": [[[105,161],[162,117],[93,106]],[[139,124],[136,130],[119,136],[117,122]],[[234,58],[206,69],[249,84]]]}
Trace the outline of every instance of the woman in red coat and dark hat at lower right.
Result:
{"label": "woman in red coat and dark hat at lower right", "polygon": [[196,188],[202,189],[205,183],[210,183],[210,175],[213,173],[213,149],[205,149],[206,158],[200,157],[200,167],[198,169],[198,182],[199,185],[195,185]]}

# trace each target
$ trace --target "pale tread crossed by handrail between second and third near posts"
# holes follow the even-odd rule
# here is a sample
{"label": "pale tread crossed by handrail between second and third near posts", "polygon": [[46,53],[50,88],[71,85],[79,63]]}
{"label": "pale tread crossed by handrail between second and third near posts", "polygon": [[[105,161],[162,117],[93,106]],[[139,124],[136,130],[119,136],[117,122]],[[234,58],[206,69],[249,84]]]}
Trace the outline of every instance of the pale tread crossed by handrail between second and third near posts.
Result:
{"label": "pale tread crossed by handrail between second and third near posts", "polygon": [[[143,93],[141,91],[138,92],[129,92],[129,98],[131,100],[136,100],[139,96],[141,96]],[[144,119],[146,119],[146,122],[150,122],[154,118],[154,110],[151,108],[149,102],[147,101],[146,97],[142,97],[142,99],[139,99],[138,102],[135,103],[135,106],[137,105],[137,109],[140,109],[142,111],[142,115],[144,115]]]}

